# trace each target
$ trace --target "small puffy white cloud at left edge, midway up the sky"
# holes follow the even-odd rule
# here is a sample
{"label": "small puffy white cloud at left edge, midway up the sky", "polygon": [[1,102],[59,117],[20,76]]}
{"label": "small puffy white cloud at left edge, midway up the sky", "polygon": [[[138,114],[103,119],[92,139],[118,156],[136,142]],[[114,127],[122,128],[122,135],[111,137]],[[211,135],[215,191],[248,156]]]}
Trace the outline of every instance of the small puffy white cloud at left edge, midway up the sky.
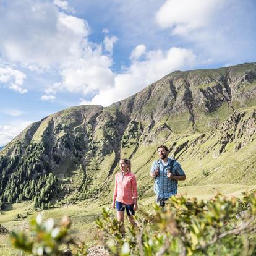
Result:
{"label": "small puffy white cloud at left edge, midway up the sky", "polygon": [[26,93],[22,88],[26,75],[12,67],[0,66],[0,83],[5,84],[7,88],[19,93]]}

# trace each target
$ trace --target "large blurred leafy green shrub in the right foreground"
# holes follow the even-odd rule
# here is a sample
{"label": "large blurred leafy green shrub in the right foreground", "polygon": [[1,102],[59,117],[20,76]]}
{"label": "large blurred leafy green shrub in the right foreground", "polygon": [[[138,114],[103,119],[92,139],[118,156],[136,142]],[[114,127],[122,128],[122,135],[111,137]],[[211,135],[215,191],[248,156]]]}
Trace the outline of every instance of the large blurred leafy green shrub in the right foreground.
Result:
{"label": "large blurred leafy green shrub in the right foreground", "polygon": [[242,200],[220,194],[207,202],[172,197],[166,208],[154,209],[143,211],[138,228],[129,228],[125,238],[111,211],[103,210],[96,221],[101,241],[113,255],[256,254],[255,190]]}

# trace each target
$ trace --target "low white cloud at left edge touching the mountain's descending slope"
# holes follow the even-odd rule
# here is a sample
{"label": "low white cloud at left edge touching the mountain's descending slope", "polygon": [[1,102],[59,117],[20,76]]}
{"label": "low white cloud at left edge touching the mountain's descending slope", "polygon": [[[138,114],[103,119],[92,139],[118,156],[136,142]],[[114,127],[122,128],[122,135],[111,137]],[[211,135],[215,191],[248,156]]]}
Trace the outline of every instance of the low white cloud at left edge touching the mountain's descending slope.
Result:
{"label": "low white cloud at left edge touching the mountain's descending slope", "polygon": [[15,136],[17,136],[22,130],[28,127],[32,122],[30,121],[16,121],[12,124],[6,124],[0,126],[0,145],[4,146]]}

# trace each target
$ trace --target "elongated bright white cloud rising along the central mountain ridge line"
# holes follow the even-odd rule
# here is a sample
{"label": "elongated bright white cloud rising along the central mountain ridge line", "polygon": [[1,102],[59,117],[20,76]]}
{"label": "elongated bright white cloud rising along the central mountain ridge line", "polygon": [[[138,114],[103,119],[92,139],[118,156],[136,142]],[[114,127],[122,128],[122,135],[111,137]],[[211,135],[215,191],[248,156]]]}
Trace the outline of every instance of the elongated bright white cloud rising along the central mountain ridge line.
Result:
{"label": "elongated bright white cloud rising along the central mountain ridge line", "polygon": [[169,72],[189,68],[195,63],[195,55],[192,51],[182,48],[173,47],[168,51],[147,51],[144,55],[143,61],[134,60],[123,74],[117,74],[114,86],[102,88],[90,101],[90,104],[108,106],[139,92]]}

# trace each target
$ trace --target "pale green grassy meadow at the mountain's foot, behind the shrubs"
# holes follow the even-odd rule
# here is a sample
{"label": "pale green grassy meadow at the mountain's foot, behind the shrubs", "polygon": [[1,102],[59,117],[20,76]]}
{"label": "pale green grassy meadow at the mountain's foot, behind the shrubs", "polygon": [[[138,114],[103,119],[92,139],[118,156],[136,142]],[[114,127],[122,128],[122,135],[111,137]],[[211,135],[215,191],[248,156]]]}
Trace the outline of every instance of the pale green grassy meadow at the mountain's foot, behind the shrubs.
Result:
{"label": "pale green grassy meadow at the mountain's foot, behind the shrubs", "polygon": [[[179,188],[179,194],[184,194],[188,197],[208,199],[213,197],[217,192],[221,192],[227,197],[240,197],[242,191],[249,189],[256,189],[256,185],[215,184],[185,186]],[[152,189],[150,188],[150,190],[148,197],[140,200],[139,207],[150,208],[150,205],[155,201]],[[51,208],[43,211],[43,214],[45,218],[53,217],[56,221],[61,220],[64,215],[70,216],[70,219],[72,220],[72,235],[77,237],[79,241],[93,243],[96,237],[96,225],[94,221],[96,217],[100,215],[103,207],[110,207],[110,205],[100,205],[100,203],[85,205],[85,203],[80,202],[77,205],[66,205],[66,207]],[[17,213],[20,214],[22,217],[21,219],[16,218]],[[9,209],[7,209],[7,211],[3,211],[0,223],[9,230],[20,228],[27,230],[29,220],[36,215],[37,212],[32,210],[32,205],[30,203],[14,203]],[[12,249],[11,245],[9,245],[7,236],[0,236],[0,253],[1,255],[6,256],[21,255],[17,250]]]}

